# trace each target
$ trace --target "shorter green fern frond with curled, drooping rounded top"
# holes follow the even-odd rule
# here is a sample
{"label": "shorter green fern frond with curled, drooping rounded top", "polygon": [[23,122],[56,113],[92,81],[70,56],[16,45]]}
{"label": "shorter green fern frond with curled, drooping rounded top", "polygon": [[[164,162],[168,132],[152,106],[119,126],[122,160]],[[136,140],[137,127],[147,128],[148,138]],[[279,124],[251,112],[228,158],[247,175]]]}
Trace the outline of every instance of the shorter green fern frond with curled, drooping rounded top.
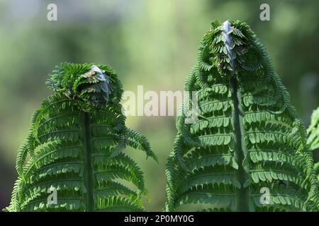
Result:
{"label": "shorter green fern frond with curled, drooping rounded top", "polygon": [[[144,136],[125,127],[123,93],[106,65],[57,66],[55,91],[35,111],[18,151],[18,179],[8,211],[142,211],[147,194],[140,167],[125,145],[157,157]],[[56,189],[57,202],[47,191]]]}

